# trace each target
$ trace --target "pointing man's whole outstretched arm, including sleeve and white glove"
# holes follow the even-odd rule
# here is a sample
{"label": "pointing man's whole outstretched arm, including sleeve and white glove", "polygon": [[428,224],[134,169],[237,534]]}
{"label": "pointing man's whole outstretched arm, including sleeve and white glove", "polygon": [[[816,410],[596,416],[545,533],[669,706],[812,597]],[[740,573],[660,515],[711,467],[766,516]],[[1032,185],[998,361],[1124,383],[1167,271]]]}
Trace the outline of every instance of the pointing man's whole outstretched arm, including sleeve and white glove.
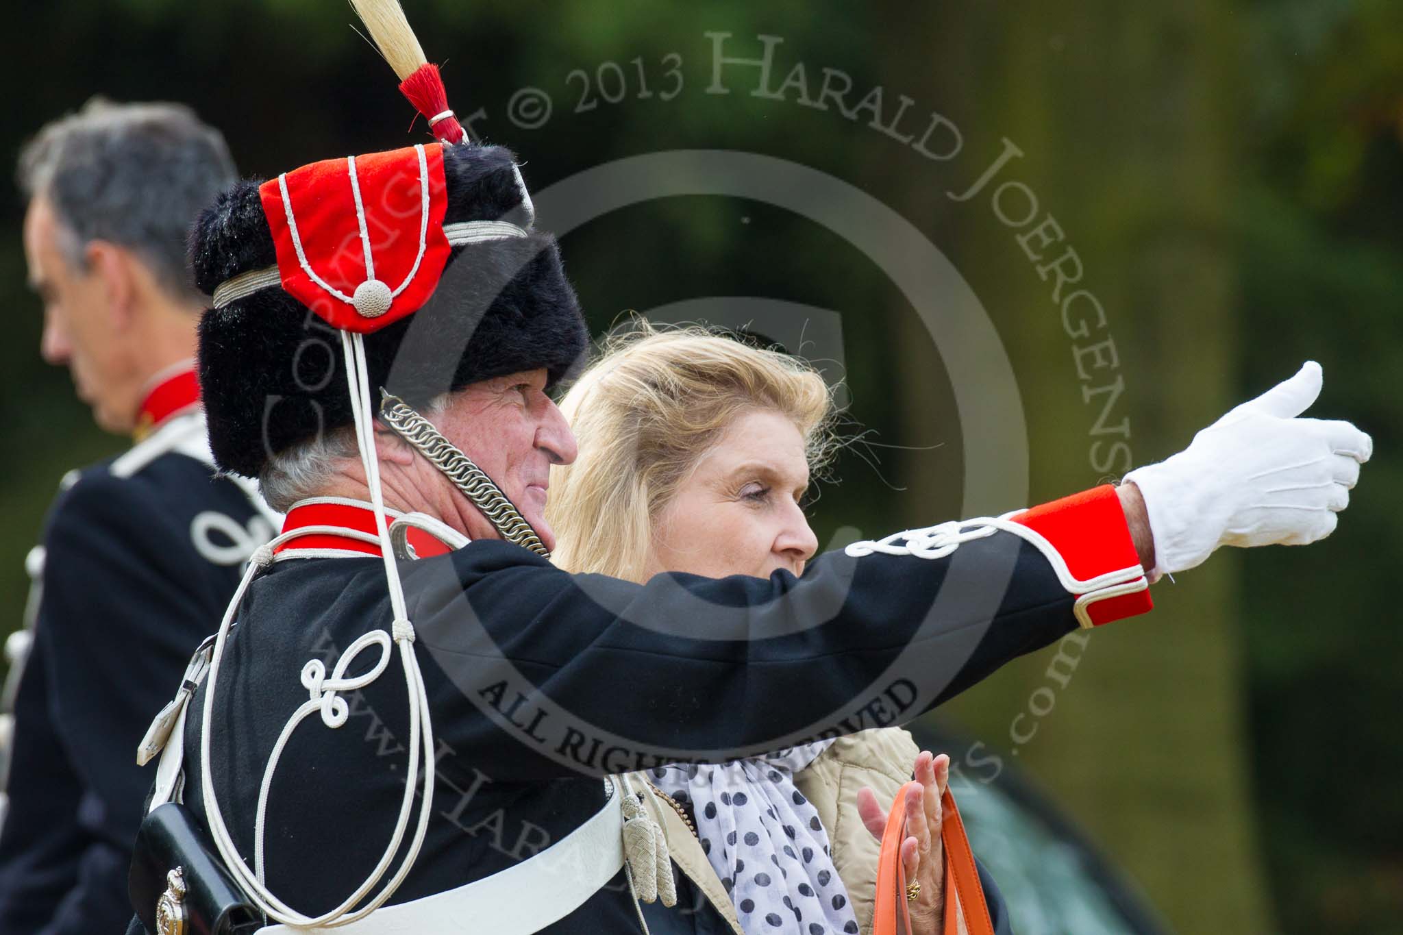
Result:
{"label": "pointing man's whole outstretched arm, including sleeve and white glove", "polygon": [[445,739],[490,749],[494,775],[546,778],[909,721],[1078,624],[1149,610],[1146,568],[1327,535],[1371,442],[1295,415],[1319,377],[1308,364],[1118,489],[854,544],[800,579],[638,586],[491,541],[421,562],[418,639],[463,712]]}

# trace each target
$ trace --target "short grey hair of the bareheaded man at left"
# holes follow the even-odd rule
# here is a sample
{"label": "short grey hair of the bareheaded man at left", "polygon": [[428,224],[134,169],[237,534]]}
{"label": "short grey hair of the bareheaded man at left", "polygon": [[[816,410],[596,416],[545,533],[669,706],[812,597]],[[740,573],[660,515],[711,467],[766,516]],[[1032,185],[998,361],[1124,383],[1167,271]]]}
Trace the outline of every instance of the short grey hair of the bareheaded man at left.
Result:
{"label": "short grey hair of the bareheaded man at left", "polygon": [[88,243],[133,251],[173,297],[198,300],[185,261],[195,217],[237,181],[223,135],[182,104],[93,98],[45,125],[20,153],[25,199],[42,196],[60,248],[86,266]]}

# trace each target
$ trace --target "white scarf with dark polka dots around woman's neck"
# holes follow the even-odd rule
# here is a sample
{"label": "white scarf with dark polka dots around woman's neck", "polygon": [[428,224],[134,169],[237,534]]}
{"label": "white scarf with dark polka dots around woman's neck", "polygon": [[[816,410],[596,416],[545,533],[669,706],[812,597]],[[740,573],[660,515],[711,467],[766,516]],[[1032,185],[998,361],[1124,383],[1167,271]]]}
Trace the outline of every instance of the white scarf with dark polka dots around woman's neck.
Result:
{"label": "white scarf with dark polka dots around woman's neck", "polygon": [[829,743],[650,774],[654,785],[692,806],[702,849],[748,934],[857,932],[847,889],[829,854],[828,831],[794,786],[794,774]]}

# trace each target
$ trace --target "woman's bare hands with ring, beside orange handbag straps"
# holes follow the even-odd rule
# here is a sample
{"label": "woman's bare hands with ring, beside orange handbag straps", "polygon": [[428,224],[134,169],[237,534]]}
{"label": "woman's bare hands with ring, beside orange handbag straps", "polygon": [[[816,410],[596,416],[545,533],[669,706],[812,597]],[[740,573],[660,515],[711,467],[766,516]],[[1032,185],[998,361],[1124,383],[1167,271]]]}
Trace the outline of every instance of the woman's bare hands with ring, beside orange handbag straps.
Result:
{"label": "woman's bare hands with ring, beside orange handbag straps", "polygon": [[[906,793],[906,838],[901,842],[901,862],[908,883],[920,883],[920,894],[908,903],[912,935],[940,935],[944,924],[944,852],[940,847],[940,796],[950,782],[950,757],[922,750],[912,775],[920,789]],[[877,803],[877,793],[864,786],[857,791],[857,814],[880,841],[887,827],[887,810]]]}

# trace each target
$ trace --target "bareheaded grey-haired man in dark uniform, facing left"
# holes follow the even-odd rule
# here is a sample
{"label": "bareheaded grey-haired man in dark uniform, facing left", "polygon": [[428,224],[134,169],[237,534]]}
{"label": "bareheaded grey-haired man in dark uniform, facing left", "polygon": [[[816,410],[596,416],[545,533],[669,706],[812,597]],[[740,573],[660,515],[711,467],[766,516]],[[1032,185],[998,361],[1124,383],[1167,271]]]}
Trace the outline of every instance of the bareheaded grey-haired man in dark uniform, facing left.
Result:
{"label": "bareheaded grey-haired man in dark uniform, facing left", "polygon": [[[118,931],[153,711],[278,517],[215,481],[194,371],[202,301],[184,241],[234,175],[184,107],[90,102],[24,150],[24,248],[43,357],[125,454],[70,472],[29,557],[18,636],[0,932]],[[27,656],[27,660],[25,660]],[[22,667],[22,674],[21,673]]]}

